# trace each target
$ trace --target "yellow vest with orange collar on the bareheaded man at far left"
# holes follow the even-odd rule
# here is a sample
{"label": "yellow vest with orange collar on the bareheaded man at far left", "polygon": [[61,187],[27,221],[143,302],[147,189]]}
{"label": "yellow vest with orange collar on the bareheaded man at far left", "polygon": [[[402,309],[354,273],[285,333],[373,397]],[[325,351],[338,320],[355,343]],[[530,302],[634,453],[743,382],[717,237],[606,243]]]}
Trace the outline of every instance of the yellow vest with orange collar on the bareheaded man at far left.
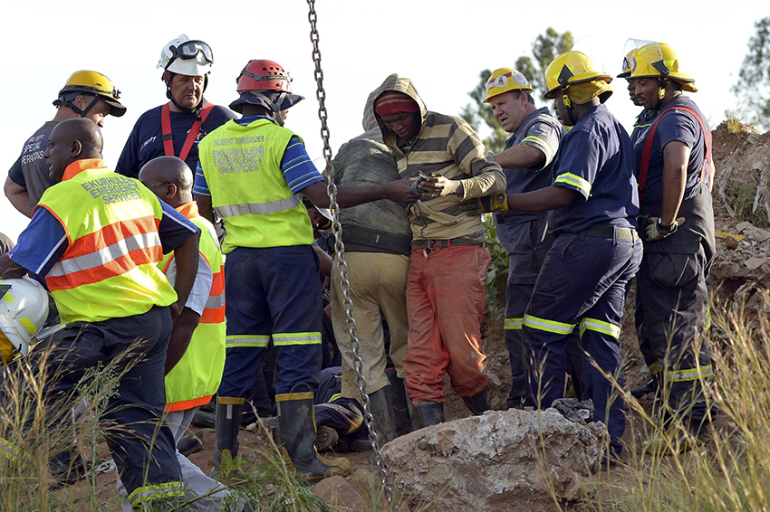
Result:
{"label": "yellow vest with orange collar on the bareheaded man at far left", "polygon": [[78,160],[38,206],[59,219],[69,241],[45,277],[64,321],[130,317],[177,300],[158,268],[163,210],[138,180],[101,159]]}

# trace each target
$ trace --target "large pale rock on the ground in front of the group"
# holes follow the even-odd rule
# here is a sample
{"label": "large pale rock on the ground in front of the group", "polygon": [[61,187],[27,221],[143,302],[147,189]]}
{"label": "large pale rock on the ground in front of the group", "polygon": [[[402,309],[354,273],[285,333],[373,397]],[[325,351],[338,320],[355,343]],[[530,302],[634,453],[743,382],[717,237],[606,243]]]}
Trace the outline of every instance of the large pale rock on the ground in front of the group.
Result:
{"label": "large pale rock on the ground in front of the group", "polygon": [[421,429],[382,453],[391,485],[412,508],[536,510],[553,508],[551,491],[578,498],[606,443],[602,423],[569,422],[554,409],[511,410]]}

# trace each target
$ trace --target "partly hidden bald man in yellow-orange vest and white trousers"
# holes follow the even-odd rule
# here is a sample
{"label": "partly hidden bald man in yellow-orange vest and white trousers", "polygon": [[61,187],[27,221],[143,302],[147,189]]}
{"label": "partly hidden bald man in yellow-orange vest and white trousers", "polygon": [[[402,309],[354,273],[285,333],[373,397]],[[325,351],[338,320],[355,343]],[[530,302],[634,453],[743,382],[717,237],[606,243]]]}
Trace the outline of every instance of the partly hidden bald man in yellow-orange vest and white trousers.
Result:
{"label": "partly hidden bald man in yellow-orange vest and white trousers", "polygon": [[[226,490],[188,460],[178,446],[198,405],[208,403],[222,380],[225,367],[225,274],[222,252],[214,226],[197,213],[192,200],[193,174],[177,156],[159,156],[140,170],[139,180],[165,204],[184,215],[201,231],[195,284],[182,312],[174,320],[166,352],[166,411],[164,420],[174,434],[182,481],[194,491],[193,510],[222,507]],[[160,270],[174,283],[177,262],[174,252],[164,255]],[[196,437],[197,439],[197,437]],[[118,495],[126,490],[118,480]],[[130,512],[130,503],[123,501]]]}

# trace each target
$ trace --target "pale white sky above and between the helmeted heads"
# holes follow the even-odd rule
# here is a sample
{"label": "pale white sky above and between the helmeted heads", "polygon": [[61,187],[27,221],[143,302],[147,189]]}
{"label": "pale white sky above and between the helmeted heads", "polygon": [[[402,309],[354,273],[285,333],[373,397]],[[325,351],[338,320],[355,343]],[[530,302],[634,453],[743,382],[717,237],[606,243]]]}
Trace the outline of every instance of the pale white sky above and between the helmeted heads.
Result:
{"label": "pale white sky above and between the helmeted heads", "polygon": [[[770,15],[766,0],[729,5],[711,0],[585,5],[574,0],[318,0],[315,8],[332,153],[363,131],[364,102],[390,73],[409,77],[429,110],[459,115],[481,71],[513,67],[548,27],[572,32],[612,76],[621,71],[629,38],[669,43],[679,52],[683,71],[696,80],[693,99],[716,128],[727,110],[742,109],[730,87],[754,23]],[[290,110],[286,127],[303,137],[308,154],[324,166],[303,0],[38,0],[5,5],[4,19],[4,183],[24,141],[53,119],[53,100],[78,70],[107,75],[128,108],[121,118],[108,117],[102,130],[105,163],[114,168],[140,114],[166,101],[156,64],[164,44],[180,33],[212,47],[205,96],[214,103],[236,99],[236,77],[250,59],[270,59],[290,71],[294,92],[305,100]],[[625,81],[616,79],[611,86],[615,94],[607,106],[630,129],[639,108],[628,100]],[[0,232],[15,241],[27,222],[0,196]]]}

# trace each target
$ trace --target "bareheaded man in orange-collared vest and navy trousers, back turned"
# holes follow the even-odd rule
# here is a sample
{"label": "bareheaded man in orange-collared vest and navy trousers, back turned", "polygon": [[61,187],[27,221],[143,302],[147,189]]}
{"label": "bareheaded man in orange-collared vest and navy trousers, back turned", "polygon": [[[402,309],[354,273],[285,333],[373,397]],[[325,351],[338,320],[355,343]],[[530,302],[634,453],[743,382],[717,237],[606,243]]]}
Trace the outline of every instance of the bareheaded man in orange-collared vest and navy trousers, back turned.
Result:
{"label": "bareheaded man in orange-collared vest and navy trousers, back turned", "polygon": [[[43,194],[14,250],[0,256],[0,277],[45,277],[71,322],[30,356],[30,367],[49,369],[36,377],[44,379],[43,424],[68,415],[72,389],[90,368],[117,365],[122,376],[103,416],[118,426],[106,431],[108,446],[131,506],[167,510],[185,491],[173,436],[160,421],[163,365],[172,318],[195,280],[198,230],[138,181],[104,167],[101,147],[90,119],[53,128],[44,156],[57,184]],[[174,287],[157,266],[162,251],[172,250]]]}

